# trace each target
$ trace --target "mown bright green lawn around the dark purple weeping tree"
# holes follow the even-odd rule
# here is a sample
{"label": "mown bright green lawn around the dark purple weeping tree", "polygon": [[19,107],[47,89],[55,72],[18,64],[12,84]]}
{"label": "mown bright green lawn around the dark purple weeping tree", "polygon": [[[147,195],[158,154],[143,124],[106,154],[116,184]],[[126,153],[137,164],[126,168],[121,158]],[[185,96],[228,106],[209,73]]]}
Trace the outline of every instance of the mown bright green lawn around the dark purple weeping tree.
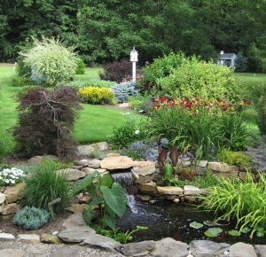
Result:
{"label": "mown bright green lawn around the dark purple weeping tree", "polygon": [[[101,68],[87,68],[85,74],[74,75],[74,80],[88,80],[98,78],[98,72]],[[0,64],[0,128],[3,131],[12,128],[17,121],[16,106],[13,96],[21,88],[9,86],[12,75],[15,74],[13,65]],[[80,118],[74,126],[74,136],[81,144],[108,141],[108,136],[112,134],[113,126],[116,126],[124,117],[121,115],[126,111],[118,108],[106,107],[103,105],[82,104],[83,110],[80,112]],[[127,111],[128,112],[128,111]],[[137,119],[142,117],[133,111],[129,112],[131,116]]]}

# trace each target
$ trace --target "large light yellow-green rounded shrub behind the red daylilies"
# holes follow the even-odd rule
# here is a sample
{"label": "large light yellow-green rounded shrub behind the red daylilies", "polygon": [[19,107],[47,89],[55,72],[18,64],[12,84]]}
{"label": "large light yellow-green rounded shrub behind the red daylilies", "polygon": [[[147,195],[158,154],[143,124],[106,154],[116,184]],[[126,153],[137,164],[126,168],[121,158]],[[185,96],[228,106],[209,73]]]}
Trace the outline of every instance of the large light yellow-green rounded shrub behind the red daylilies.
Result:
{"label": "large light yellow-green rounded shrub behind the red daylilies", "polygon": [[242,78],[226,66],[207,63],[199,58],[186,58],[172,74],[157,80],[161,93],[170,98],[202,97],[238,103],[246,98]]}

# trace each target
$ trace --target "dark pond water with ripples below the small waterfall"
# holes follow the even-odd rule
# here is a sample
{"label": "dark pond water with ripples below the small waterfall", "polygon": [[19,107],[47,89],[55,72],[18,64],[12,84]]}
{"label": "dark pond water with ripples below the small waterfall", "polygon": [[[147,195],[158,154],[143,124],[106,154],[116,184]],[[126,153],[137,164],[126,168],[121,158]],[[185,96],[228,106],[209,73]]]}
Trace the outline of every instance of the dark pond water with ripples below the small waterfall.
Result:
{"label": "dark pond water with ripples below the small waterfall", "polygon": [[[120,219],[117,219],[116,227],[121,231],[136,230],[137,226],[146,226],[148,230],[137,231],[132,234],[129,242],[139,242],[144,240],[160,240],[162,238],[173,238],[178,241],[190,244],[192,240],[212,240],[217,243],[235,244],[244,242],[252,245],[265,245],[266,237],[259,238],[254,235],[253,239],[249,238],[250,233],[241,233],[238,237],[228,234],[229,230],[235,230],[235,222],[229,225],[203,225],[200,229],[194,229],[190,226],[192,222],[206,222],[215,220],[211,212],[199,211],[193,206],[184,203],[173,203],[171,201],[154,201],[145,203],[136,201],[133,195],[128,196],[128,210]],[[210,228],[220,228],[217,237],[209,238],[204,232]]]}

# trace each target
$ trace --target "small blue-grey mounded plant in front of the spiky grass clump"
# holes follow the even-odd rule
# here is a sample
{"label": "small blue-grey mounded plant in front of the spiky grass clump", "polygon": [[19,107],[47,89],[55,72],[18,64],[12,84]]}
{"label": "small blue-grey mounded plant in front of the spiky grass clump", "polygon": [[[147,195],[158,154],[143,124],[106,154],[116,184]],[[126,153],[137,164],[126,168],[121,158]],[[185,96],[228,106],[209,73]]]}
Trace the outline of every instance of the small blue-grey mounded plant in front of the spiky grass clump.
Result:
{"label": "small blue-grey mounded plant in front of the spiky grass clump", "polygon": [[39,208],[25,206],[13,217],[13,223],[23,230],[37,230],[49,221],[50,214]]}

